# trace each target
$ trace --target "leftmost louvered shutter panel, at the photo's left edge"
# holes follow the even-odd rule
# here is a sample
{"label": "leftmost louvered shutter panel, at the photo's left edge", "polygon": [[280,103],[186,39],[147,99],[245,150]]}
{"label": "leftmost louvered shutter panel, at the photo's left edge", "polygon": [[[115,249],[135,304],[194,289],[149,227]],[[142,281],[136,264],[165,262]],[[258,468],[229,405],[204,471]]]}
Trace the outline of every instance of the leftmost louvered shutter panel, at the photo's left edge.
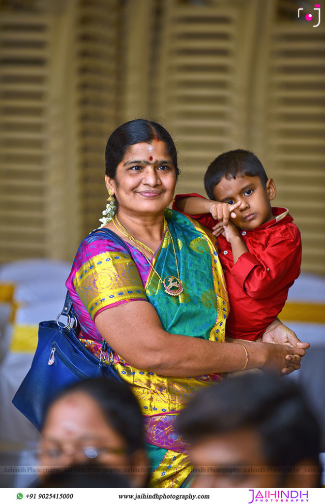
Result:
{"label": "leftmost louvered shutter panel, at the photo's left edge", "polygon": [[49,19],[0,17],[1,261],[46,256]]}

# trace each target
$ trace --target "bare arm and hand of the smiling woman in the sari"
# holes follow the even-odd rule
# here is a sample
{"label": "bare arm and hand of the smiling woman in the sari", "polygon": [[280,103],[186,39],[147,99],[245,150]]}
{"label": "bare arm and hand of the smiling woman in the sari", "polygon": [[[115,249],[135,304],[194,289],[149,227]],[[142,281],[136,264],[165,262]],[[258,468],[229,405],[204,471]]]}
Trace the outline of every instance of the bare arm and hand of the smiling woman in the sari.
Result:
{"label": "bare arm and hand of the smiling woman in the sari", "polygon": [[[103,338],[123,359],[137,369],[166,376],[199,376],[240,370],[246,363],[241,345],[216,343],[200,338],[170,334],[161,328],[149,302],[132,301],[101,311],[96,326]],[[284,345],[246,342],[247,368],[261,367],[286,374],[300,367],[305,351]],[[296,354],[296,355],[294,355]]]}

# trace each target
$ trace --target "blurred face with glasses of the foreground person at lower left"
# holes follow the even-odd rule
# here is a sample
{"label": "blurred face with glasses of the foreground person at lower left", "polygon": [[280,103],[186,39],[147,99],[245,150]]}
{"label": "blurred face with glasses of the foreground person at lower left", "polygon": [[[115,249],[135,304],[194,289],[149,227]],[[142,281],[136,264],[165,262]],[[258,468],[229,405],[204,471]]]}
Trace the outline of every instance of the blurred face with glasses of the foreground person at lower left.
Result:
{"label": "blurred face with glasses of the foreground person at lower left", "polygon": [[108,424],[97,402],[83,392],[53,404],[42,434],[41,465],[70,466],[89,459],[110,467],[129,463],[124,439]]}

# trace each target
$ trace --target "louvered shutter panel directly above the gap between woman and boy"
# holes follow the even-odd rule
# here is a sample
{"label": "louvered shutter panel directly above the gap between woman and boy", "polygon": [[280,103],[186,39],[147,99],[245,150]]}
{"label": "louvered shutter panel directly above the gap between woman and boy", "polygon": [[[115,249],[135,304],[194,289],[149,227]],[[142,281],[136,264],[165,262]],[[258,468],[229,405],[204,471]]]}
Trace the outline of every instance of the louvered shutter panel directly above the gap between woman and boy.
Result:
{"label": "louvered shutter panel directly above the gap between woman and boy", "polygon": [[208,164],[247,143],[255,20],[256,2],[166,2],[157,115],[174,134],[183,161],[179,192],[202,192]]}

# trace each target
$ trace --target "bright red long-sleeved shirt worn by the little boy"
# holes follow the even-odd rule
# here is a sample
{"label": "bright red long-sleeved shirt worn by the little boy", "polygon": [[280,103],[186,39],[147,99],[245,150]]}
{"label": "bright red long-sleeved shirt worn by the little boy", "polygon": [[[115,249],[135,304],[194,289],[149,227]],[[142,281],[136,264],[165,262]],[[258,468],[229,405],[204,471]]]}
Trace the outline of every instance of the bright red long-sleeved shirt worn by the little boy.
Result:
{"label": "bright red long-sleeved shirt worn by the little boy", "polygon": [[[178,195],[175,201],[197,194]],[[200,196],[203,198],[203,196]],[[175,203],[173,204],[175,208]],[[225,273],[230,313],[226,334],[250,341],[260,338],[282,310],[289,287],[300,274],[301,237],[289,211],[272,208],[274,219],[251,231],[240,231],[249,252],[233,264],[231,245],[218,237],[219,259]],[[211,214],[191,216],[208,229]]]}

